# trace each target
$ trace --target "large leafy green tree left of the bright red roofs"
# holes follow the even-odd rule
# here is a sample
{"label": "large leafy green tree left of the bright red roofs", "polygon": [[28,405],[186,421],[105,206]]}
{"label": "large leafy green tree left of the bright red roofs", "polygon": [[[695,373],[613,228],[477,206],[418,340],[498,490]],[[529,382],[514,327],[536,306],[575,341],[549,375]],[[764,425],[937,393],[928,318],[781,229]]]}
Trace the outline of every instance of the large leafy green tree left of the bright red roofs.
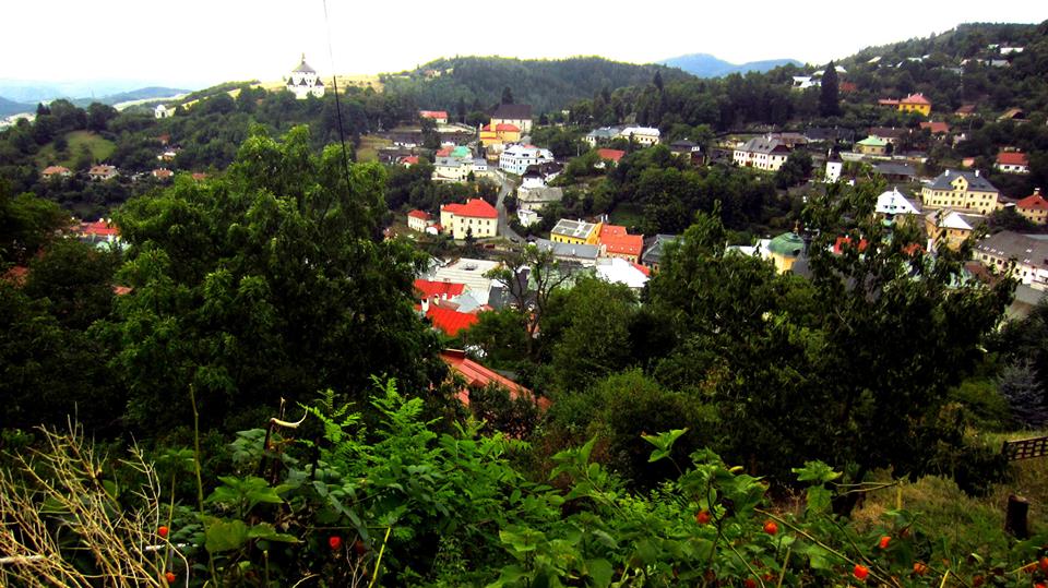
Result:
{"label": "large leafy green tree left of the bright red roofs", "polygon": [[420,257],[380,238],[384,181],[338,148],[313,156],[296,128],[282,143],[253,133],[222,179],[128,202],[120,275],[134,292],[109,333],[132,421],[188,419],[190,386],[216,425],[327,387],[360,398],[371,374],[439,380],[412,307]]}

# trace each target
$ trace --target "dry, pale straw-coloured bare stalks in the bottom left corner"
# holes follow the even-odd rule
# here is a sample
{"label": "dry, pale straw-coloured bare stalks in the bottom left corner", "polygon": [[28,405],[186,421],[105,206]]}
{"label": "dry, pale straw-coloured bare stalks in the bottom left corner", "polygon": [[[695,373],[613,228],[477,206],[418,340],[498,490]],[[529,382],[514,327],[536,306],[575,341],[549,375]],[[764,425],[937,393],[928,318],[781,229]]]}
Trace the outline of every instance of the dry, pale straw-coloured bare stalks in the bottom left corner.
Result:
{"label": "dry, pale straw-coloured bare stalks in the bottom left corner", "polygon": [[[152,465],[131,448],[123,465],[142,485],[118,500],[82,430],[40,431],[43,448],[0,470],[0,586],[166,586],[169,545],[152,544],[160,520]],[[188,581],[184,560],[179,567]]]}

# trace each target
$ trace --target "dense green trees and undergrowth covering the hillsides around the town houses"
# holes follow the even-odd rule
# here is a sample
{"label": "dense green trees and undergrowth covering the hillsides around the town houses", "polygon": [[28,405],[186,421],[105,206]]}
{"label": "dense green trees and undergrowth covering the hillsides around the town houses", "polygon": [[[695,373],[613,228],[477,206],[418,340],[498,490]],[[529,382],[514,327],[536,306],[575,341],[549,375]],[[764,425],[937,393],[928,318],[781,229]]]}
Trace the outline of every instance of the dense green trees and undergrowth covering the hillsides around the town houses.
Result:
{"label": "dense green trees and undergrowth covering the hillsides around the town houses", "polygon": [[[962,157],[989,171],[1007,144],[1032,172],[992,175],[1005,192],[1048,179],[1045,70],[1028,70],[1045,34],[974,25],[874,51],[1025,44],[1009,68],[965,67],[1011,93],[979,98],[987,112],[1019,104],[1027,121],[918,132],[922,171]],[[932,61],[912,63],[931,76]],[[237,83],[169,119],[59,100],[0,134],[0,584],[1048,581],[1048,471],[1000,451],[1048,424],[1048,303],[1009,320],[1015,280],[975,279],[973,240],[930,251],[921,227],[882,223],[886,184],[861,166],[854,184],[811,187],[807,152],[776,173],[623,140],[614,166],[582,153],[598,124],[703,149],[737,129],[919,129],[869,100],[908,65],[831,101],[791,89],[791,68],[699,81],[619,65],[458,58],[338,103]],[[524,70],[529,84],[508,82]],[[571,75],[582,96],[547,80]],[[953,81],[914,83],[954,99]],[[1014,101],[1023,88],[1032,101]],[[546,223],[628,209],[631,228],[678,238],[641,289],[538,248],[486,253],[515,303],[449,336],[414,286],[432,257],[385,229],[498,187],[436,184],[425,147],[412,167],[357,154],[419,107],[469,116],[507,94],[538,112],[574,100],[535,132],[565,159]],[[121,177],[40,178],[62,161]],[[151,178],[159,165],[181,172]],[[70,209],[111,216],[120,245],[73,238]],[[771,228],[800,233],[807,276],[728,247]],[[448,348],[526,391],[463,391]],[[1035,501],[1033,525],[1005,532],[1012,492]]]}

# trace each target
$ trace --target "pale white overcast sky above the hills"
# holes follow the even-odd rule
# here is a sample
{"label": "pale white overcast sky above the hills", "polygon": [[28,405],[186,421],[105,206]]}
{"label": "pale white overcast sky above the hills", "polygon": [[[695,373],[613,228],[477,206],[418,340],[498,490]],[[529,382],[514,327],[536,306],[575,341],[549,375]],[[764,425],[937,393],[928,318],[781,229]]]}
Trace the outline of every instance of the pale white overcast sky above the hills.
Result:
{"label": "pale white overcast sky above the hills", "polygon": [[1041,22],[1048,2],[327,0],[327,14],[331,55],[323,0],[3,0],[0,79],[202,87],[277,80],[302,52],[322,75],[455,55],[646,63],[705,52],[737,63],[824,63],[963,22]]}

